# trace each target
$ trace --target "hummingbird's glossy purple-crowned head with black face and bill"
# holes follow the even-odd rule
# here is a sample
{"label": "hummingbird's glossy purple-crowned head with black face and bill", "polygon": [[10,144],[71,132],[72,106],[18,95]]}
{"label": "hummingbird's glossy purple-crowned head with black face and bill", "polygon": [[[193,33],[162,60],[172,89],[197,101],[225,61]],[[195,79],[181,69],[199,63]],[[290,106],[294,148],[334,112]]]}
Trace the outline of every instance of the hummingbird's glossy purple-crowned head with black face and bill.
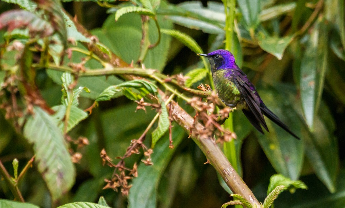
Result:
{"label": "hummingbird's glossy purple-crowned head with black face and bill", "polygon": [[199,56],[206,56],[210,62],[211,72],[219,69],[235,68],[235,57],[230,51],[219,49],[209,54],[198,54]]}

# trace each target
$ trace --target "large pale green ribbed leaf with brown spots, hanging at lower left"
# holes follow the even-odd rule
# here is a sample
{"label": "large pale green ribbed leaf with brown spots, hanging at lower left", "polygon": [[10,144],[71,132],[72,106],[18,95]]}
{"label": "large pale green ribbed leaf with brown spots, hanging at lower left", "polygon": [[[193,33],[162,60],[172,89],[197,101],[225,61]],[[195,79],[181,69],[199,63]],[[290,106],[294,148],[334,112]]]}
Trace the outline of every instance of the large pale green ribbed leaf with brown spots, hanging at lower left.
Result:
{"label": "large pale green ribbed leaf with brown spots, hanging at lower left", "polygon": [[52,117],[39,107],[34,107],[33,112],[34,116],[24,125],[23,135],[33,144],[38,171],[55,201],[74,184],[75,167],[61,130]]}

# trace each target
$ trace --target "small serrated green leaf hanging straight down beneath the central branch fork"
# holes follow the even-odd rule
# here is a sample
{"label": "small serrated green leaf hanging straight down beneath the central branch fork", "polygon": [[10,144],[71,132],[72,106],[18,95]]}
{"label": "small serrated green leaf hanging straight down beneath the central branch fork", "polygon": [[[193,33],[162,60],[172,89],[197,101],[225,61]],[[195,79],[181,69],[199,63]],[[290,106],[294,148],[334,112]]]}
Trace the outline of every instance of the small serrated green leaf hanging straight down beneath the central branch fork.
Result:
{"label": "small serrated green leaf hanging straight down beneath the central branch fork", "polygon": [[165,132],[168,131],[169,125],[170,125],[167,107],[165,106],[164,101],[161,100],[160,95],[158,95],[158,98],[160,100],[161,113],[159,114],[157,128],[152,132],[152,143],[151,143],[152,148],[154,148],[157,141],[165,134]]}

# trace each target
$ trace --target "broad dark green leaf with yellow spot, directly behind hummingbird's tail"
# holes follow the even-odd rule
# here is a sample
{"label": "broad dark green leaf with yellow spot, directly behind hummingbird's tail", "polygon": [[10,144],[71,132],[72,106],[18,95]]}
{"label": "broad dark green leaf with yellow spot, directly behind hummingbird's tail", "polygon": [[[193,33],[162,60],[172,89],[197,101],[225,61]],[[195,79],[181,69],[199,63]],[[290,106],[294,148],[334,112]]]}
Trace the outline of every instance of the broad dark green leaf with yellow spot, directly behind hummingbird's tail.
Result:
{"label": "broad dark green leaf with yellow spot, directly behind hummingbird's tail", "polygon": [[[266,106],[275,113],[283,123],[297,135],[300,133],[302,122],[293,110],[287,95],[278,94],[275,90],[259,91]],[[292,94],[292,93],[291,93]],[[265,118],[269,133],[261,134],[255,130],[268,160],[278,173],[296,180],[303,166],[304,144],[285,130]]]}

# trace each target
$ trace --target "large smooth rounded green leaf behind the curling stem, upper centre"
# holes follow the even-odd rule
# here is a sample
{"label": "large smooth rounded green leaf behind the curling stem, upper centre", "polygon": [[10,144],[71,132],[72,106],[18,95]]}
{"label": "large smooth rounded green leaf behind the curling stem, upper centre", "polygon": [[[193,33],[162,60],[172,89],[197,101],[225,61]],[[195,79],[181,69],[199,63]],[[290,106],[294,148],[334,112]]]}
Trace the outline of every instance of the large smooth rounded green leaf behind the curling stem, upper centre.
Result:
{"label": "large smooth rounded green leaf behind the curling stem, upper centre", "polygon": [[[114,18],[115,14],[110,15],[104,22],[102,30],[94,30],[93,33],[125,62],[131,63],[132,60],[136,62],[139,57],[142,36],[140,16],[135,13],[127,13],[117,22],[114,22]],[[172,28],[172,23],[164,20],[162,16],[157,16],[157,20],[160,28]],[[151,43],[158,40],[157,27],[153,20],[149,21],[148,35]],[[162,35],[158,46],[148,50],[144,59],[147,68],[163,69],[166,64],[170,40],[168,35]]]}

